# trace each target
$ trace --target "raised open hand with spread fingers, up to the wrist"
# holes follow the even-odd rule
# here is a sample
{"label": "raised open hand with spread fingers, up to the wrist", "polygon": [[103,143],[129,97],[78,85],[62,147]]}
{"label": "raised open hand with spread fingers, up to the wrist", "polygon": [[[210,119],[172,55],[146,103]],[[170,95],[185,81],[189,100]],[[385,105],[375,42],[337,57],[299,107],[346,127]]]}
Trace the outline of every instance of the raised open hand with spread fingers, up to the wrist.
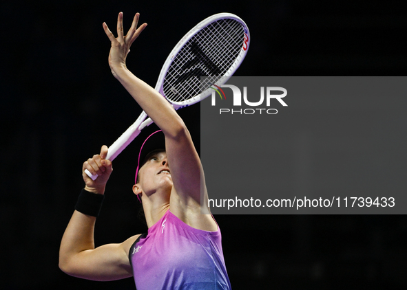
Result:
{"label": "raised open hand with spread fingers, up to the wrist", "polygon": [[112,69],[112,74],[116,76],[115,69],[120,67],[126,67],[126,56],[130,51],[130,46],[140,35],[140,33],[145,29],[147,23],[143,23],[137,28],[138,19],[140,17],[139,13],[136,13],[133,19],[132,27],[126,35],[123,34],[123,12],[118,14],[117,19],[117,38],[109,30],[107,24],[103,23],[103,29],[109,40],[112,42],[112,47],[109,54],[109,66]]}

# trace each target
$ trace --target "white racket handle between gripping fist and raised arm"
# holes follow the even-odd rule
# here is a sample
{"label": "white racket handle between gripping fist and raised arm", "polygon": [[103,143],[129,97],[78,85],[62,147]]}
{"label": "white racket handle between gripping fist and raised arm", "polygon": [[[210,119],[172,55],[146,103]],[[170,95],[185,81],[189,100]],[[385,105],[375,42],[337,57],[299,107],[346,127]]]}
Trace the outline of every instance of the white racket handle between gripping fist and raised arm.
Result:
{"label": "white racket handle between gripping fist and raised arm", "polygon": [[[134,122],[132,126],[129,126],[125,133],[118,137],[118,139],[109,147],[109,150],[107,150],[107,160],[113,161],[117,157],[117,155],[119,155],[130,143],[132,143],[132,141],[135,137],[138,136],[138,134],[140,134],[141,129],[153,123],[153,121],[148,118],[148,120],[151,120],[151,122],[139,129],[139,127],[141,127],[140,124],[145,123],[143,121],[146,117],[147,114],[143,111],[143,113],[141,113],[141,115],[137,118],[136,122]],[[87,169],[85,169],[84,171],[86,175],[92,180],[96,180],[96,178],[98,178],[97,174],[92,175],[92,173]]]}

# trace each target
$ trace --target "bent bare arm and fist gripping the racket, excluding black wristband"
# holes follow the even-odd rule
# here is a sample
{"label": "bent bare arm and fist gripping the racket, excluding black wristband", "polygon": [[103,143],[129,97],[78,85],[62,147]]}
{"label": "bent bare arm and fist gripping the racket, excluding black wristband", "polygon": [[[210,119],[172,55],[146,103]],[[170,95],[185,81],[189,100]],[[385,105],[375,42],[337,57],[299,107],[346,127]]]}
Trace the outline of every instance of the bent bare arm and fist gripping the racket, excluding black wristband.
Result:
{"label": "bent bare arm and fist gripping the racket, excluding black wristband", "polygon": [[[106,182],[112,173],[112,162],[106,160],[107,146],[100,155],[94,155],[83,164],[99,177],[92,181],[83,172],[85,190],[94,194],[104,194]],[[133,276],[129,263],[129,249],[138,236],[132,236],[120,244],[94,246],[95,216],[74,211],[67,225],[59,249],[59,267],[66,274],[88,280],[109,281]]]}

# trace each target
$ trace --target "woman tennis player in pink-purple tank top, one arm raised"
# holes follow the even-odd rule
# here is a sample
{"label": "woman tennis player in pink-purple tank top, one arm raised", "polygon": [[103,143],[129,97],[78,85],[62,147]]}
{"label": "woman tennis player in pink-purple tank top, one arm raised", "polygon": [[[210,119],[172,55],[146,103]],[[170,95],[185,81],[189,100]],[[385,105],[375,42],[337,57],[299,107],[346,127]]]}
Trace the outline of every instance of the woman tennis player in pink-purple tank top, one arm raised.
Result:
{"label": "woman tennis player in pink-purple tank top, one arm raised", "polygon": [[[137,27],[138,18],[136,14],[126,36],[123,13],[118,14],[117,38],[105,23],[103,28],[112,42],[112,74],[162,130],[154,135],[162,134],[165,140],[165,150],[154,150],[144,160],[139,157],[133,187],[143,205],[148,233],[94,247],[96,216],[112,173],[103,146],[100,154],[83,164],[85,188],[63,234],[59,267],[90,280],[134,276],[138,290],[231,289],[219,227],[211,214],[201,214],[201,207],[209,213],[205,179],[189,131],[169,102],[126,67],[130,46],[147,26]],[[87,177],[85,169],[98,178]]]}

